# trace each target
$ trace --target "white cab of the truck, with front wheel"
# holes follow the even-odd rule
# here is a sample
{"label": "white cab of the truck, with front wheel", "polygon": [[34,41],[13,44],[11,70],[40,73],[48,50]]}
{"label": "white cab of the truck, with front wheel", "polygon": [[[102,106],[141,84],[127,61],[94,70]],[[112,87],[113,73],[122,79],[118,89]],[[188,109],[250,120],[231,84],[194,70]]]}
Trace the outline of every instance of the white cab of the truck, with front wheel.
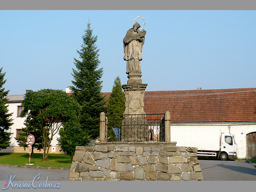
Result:
{"label": "white cab of the truck, with front wheel", "polygon": [[234,134],[221,133],[220,152],[218,158],[227,160],[228,158],[236,158],[236,142]]}

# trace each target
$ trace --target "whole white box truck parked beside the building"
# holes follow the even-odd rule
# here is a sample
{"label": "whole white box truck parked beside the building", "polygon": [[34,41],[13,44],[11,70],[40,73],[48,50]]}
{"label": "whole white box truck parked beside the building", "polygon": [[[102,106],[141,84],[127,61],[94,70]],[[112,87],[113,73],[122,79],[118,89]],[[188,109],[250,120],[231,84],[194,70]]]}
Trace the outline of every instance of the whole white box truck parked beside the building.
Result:
{"label": "whole white box truck parked beside the building", "polygon": [[234,134],[223,133],[219,129],[171,126],[171,141],[177,142],[176,146],[198,148],[197,156],[218,157],[220,160],[236,158]]}

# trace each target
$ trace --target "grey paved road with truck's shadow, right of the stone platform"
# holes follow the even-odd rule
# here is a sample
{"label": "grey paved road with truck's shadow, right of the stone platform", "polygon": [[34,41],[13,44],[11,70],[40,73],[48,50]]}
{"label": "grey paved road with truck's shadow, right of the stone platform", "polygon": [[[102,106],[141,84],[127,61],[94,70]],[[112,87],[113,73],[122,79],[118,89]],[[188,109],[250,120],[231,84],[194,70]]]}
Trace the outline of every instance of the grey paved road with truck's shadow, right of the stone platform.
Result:
{"label": "grey paved road with truck's shadow, right of the stone platform", "polygon": [[242,161],[199,160],[205,181],[256,181],[256,168]]}

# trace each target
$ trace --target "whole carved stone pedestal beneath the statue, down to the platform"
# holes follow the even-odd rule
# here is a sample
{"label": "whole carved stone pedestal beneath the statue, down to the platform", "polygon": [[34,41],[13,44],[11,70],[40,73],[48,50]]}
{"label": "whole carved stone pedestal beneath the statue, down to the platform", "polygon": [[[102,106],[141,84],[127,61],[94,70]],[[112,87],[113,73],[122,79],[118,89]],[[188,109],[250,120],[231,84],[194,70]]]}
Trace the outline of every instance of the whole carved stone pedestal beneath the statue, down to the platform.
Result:
{"label": "whole carved stone pedestal beneath the statue, down to the platform", "polygon": [[122,141],[148,141],[148,121],[144,111],[144,93],[148,84],[142,84],[141,74],[128,75],[127,84],[122,85],[125,97]]}

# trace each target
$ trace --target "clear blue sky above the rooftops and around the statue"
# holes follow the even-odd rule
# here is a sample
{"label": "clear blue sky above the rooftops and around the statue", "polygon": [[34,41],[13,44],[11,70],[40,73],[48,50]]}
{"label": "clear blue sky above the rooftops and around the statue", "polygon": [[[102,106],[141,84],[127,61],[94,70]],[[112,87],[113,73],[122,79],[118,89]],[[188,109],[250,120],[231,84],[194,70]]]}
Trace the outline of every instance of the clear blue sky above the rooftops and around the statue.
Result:
{"label": "clear blue sky above the rooftops and around the statue", "polygon": [[146,91],[256,87],[254,10],[0,10],[4,87],[24,94],[72,85],[89,18],[98,35],[102,92],[111,92],[116,76],[126,84],[122,40],[137,16],[146,22]]}

